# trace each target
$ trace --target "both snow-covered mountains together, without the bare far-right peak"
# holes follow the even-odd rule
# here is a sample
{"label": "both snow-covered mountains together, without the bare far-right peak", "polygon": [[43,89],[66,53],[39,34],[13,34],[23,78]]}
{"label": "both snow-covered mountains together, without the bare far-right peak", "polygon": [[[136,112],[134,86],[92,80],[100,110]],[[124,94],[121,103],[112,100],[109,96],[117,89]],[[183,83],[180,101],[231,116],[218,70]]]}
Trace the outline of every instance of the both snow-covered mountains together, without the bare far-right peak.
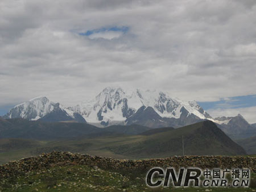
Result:
{"label": "both snow-covered mountains together, without the bare far-right peak", "polygon": [[[91,101],[68,108],[49,101],[47,97],[36,97],[15,106],[5,115],[5,118],[52,120],[54,116],[56,119],[80,119],[80,122],[85,119],[90,124],[107,126],[126,124],[127,119],[134,119],[132,116],[143,107],[150,108],[150,115],[160,118],[160,122],[164,120],[163,118],[211,119],[196,101],[181,101],[159,90],[125,90],[119,86],[106,87]],[[146,112],[148,114],[148,110]],[[145,118],[150,117],[146,115]]]}

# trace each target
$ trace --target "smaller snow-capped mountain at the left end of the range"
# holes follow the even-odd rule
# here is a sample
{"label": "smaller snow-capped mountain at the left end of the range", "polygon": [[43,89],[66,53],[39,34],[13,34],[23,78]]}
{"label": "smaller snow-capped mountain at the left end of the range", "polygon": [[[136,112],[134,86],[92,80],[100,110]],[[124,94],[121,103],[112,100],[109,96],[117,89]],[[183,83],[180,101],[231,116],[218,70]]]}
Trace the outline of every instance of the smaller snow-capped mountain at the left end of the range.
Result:
{"label": "smaller snow-capped mountain at the left end of the range", "polygon": [[56,121],[56,118],[58,121],[76,120],[80,118],[79,116],[75,112],[68,110],[68,108],[64,108],[59,103],[54,103],[49,101],[47,97],[40,96],[16,105],[3,118],[23,118],[28,120],[41,120],[43,118],[42,120],[51,122]]}

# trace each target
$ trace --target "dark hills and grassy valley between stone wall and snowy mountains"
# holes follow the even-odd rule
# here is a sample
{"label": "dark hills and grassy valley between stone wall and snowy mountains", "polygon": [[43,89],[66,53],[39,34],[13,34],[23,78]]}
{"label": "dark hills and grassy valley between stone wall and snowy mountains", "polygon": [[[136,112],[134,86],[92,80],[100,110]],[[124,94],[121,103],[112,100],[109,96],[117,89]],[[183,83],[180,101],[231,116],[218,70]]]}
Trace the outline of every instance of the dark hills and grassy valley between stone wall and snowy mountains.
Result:
{"label": "dark hills and grassy valley between stone wall and snowy mountains", "polygon": [[[5,121],[10,123],[13,120]],[[240,145],[210,121],[177,129],[152,129],[138,125],[95,128],[82,123],[42,123],[21,120],[26,122],[26,126],[22,129],[12,127],[8,132],[2,128],[0,139],[2,164],[21,157],[52,151],[129,159],[181,156],[182,136],[185,155],[246,155],[246,151]]]}

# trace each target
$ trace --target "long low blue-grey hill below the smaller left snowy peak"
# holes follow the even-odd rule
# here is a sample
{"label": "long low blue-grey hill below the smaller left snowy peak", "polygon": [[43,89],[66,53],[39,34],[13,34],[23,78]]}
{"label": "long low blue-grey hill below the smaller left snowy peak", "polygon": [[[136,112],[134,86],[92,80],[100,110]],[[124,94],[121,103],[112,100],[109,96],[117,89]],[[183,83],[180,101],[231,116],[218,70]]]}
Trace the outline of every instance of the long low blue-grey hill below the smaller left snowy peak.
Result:
{"label": "long low blue-grey hill below the smaller left snowy peak", "polygon": [[21,118],[0,119],[0,139],[13,137],[54,140],[71,137],[93,137],[98,135],[137,135],[147,130],[150,130],[150,128],[138,125],[98,128],[86,123],[46,123]]}

